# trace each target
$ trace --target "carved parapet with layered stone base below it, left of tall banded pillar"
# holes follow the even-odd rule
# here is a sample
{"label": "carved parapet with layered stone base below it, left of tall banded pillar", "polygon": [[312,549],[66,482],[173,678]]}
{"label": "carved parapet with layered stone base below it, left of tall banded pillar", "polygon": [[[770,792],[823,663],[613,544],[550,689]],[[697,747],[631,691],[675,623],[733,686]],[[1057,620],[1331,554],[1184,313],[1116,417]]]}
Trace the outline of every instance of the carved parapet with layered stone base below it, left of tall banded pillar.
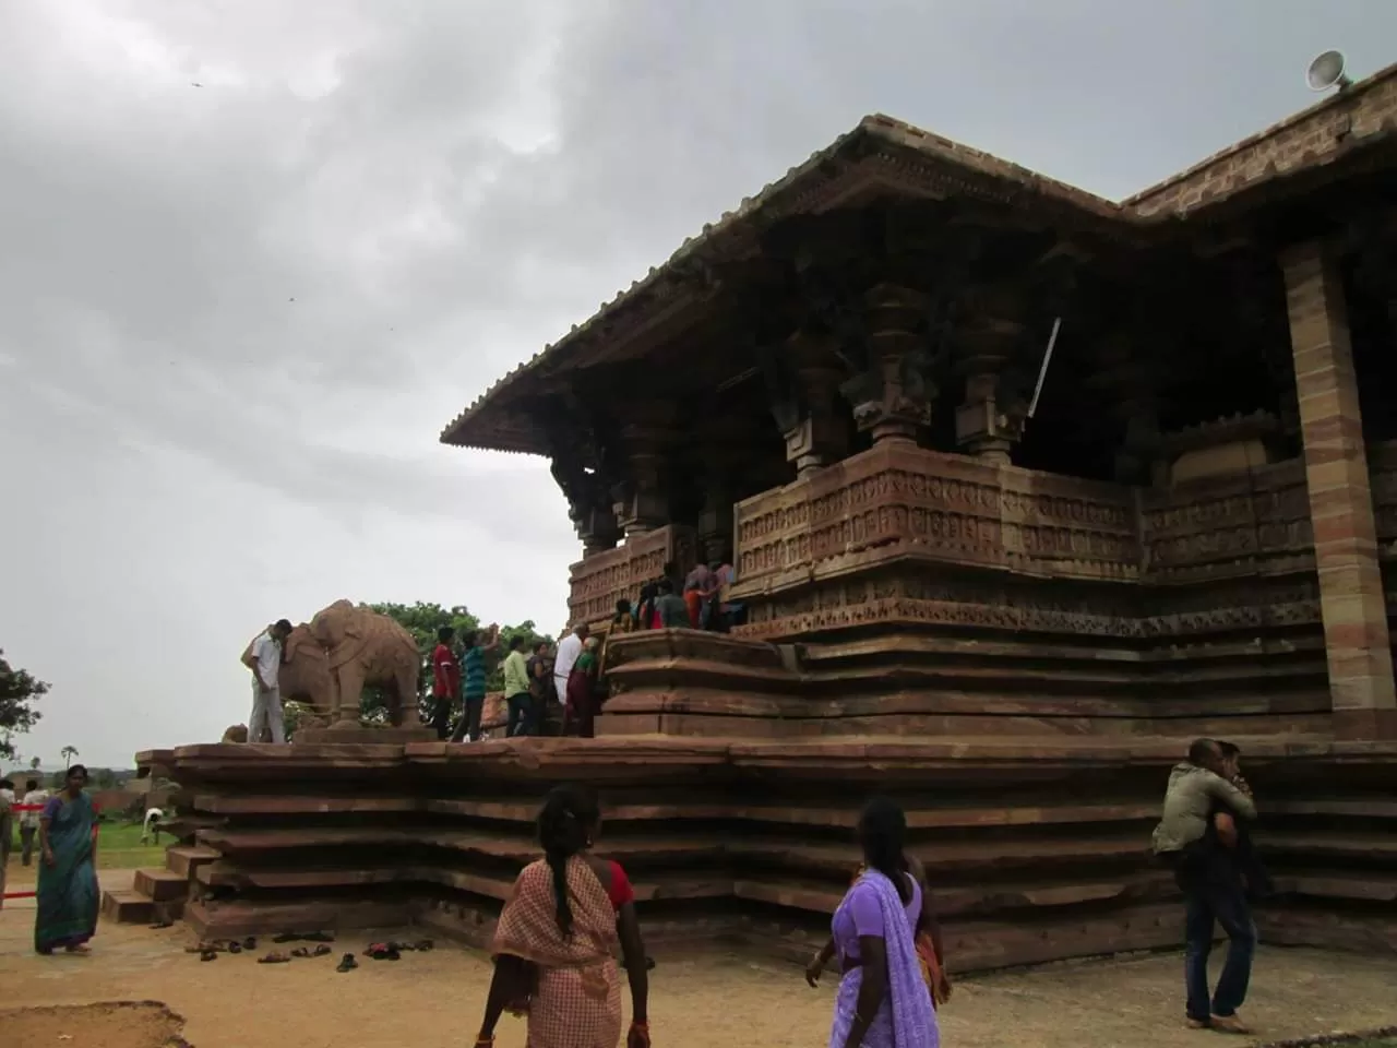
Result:
{"label": "carved parapet with layered stone base below it, left of tall banded pillar", "polygon": [[[1144,489],[876,447],[740,503],[736,532],[739,634],[799,644],[826,703],[746,734],[1327,728],[1295,460]],[[736,731],[698,713],[665,731]]]}

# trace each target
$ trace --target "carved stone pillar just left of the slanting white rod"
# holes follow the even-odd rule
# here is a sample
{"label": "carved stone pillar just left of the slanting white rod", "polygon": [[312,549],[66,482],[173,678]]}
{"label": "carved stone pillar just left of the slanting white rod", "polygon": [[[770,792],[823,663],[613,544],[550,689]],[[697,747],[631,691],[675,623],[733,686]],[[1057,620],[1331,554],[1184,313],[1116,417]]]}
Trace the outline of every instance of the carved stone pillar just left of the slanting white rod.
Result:
{"label": "carved stone pillar just left of the slanting white rod", "polygon": [[1024,435],[1028,404],[1004,383],[1004,365],[1023,348],[1017,320],[981,316],[957,331],[957,370],[965,376],[965,400],[956,409],[956,444],[988,463],[1009,464]]}

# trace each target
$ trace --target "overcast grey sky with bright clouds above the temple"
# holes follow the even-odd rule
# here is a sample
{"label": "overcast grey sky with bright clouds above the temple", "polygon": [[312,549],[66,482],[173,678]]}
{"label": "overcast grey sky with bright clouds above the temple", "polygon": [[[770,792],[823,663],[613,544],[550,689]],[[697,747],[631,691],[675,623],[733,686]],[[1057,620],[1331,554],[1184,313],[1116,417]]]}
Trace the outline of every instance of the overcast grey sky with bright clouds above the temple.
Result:
{"label": "overcast grey sky with bright clouds above the temple", "polygon": [[0,0],[22,753],[217,741],[249,637],[339,597],[556,630],[548,464],[439,430],[865,113],[1119,197],[1393,41],[1391,0]]}

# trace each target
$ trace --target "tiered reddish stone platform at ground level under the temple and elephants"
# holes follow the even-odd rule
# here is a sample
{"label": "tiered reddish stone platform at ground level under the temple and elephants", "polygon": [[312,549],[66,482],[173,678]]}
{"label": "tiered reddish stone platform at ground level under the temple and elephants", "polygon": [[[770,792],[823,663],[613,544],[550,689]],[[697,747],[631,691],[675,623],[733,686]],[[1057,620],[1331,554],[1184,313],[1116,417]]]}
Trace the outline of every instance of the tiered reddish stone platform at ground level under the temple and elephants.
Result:
{"label": "tiered reddish stone platform at ground level under the temple and elephants", "polygon": [[[1397,947],[1390,743],[1231,736],[1263,799],[1271,942]],[[875,792],[908,812],[957,970],[1182,940],[1148,854],[1176,739],[701,739],[201,745],[138,756],[180,783],[184,918],[208,936],[416,921],[485,943],[534,857],[548,787],[594,784],[598,851],[647,938],[803,960],[858,862]],[[172,864],[173,866],[175,864]],[[169,887],[165,889],[169,891]]]}

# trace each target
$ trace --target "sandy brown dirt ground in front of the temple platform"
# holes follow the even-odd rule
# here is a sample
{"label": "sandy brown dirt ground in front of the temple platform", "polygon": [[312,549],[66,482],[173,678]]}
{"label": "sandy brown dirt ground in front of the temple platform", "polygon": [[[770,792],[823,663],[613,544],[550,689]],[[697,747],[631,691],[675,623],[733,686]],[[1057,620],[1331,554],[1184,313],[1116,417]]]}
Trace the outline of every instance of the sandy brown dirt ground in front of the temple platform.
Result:
{"label": "sandy brown dirt ground in front of the temple platform", "polygon": [[[366,935],[342,938],[330,957],[291,964],[226,954],[201,963],[184,953],[190,938],[183,928],[106,924],[91,957],[38,957],[29,946],[32,919],[32,910],[15,904],[0,912],[7,1003],[27,1002],[31,1010],[22,1021],[36,1027],[24,1026],[25,1034],[14,1038],[25,1045],[156,1048],[162,1041],[131,1037],[142,1031],[147,1038],[168,1037],[159,1012],[36,1009],[159,1000],[184,1017],[183,1037],[194,1048],[387,1048],[408,1041],[415,1048],[458,1048],[476,1031],[490,971],[481,954],[439,943],[401,961],[360,959],[358,971],[335,973],[338,956],[362,950]],[[813,991],[796,967],[719,953],[661,953],[658,961],[650,1006],[658,1048],[810,1048],[827,1041],[830,978]],[[1218,1034],[1182,1028],[1180,967],[1178,956],[1146,956],[965,980],[942,1016],[942,1042],[950,1048],[1215,1044]],[[1394,984],[1394,959],[1263,949],[1245,1010],[1256,1030],[1250,1041],[1397,1024]],[[15,1028],[11,1021],[18,1020],[0,1017],[6,1042]],[[120,1026],[92,1026],[103,1021]],[[520,1048],[522,1023],[503,1020],[497,1044]]]}

